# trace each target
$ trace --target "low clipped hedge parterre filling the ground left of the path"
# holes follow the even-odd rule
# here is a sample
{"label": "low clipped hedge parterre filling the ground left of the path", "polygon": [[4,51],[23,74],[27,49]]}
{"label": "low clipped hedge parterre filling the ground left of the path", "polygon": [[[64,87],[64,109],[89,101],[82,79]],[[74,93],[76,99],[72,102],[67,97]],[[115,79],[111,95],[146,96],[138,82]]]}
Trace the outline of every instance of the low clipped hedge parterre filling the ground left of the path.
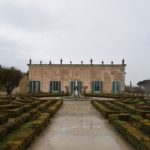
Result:
{"label": "low clipped hedge parterre filling the ground left of the path", "polygon": [[62,104],[32,97],[0,98],[0,150],[24,150]]}

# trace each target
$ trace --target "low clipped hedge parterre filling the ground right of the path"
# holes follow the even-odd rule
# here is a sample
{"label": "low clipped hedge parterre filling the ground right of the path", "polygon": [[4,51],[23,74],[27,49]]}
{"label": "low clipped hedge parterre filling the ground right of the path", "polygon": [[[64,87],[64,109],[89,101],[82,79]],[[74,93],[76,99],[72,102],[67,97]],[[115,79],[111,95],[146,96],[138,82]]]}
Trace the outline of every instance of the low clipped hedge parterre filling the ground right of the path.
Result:
{"label": "low clipped hedge parterre filling the ground right of the path", "polygon": [[150,104],[144,99],[93,100],[91,103],[137,150],[150,150]]}

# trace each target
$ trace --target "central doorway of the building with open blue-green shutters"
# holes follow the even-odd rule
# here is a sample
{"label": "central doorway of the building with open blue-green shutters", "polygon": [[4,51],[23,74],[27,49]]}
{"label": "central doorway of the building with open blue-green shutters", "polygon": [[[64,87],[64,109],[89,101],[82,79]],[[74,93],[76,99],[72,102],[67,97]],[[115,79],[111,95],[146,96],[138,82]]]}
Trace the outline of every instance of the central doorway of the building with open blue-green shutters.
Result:
{"label": "central doorway of the building with open blue-green shutters", "polygon": [[70,91],[71,91],[71,94],[74,93],[74,91],[76,90],[76,83],[77,83],[77,90],[79,92],[79,94],[81,94],[82,92],[82,82],[81,81],[71,81],[70,82]]}

